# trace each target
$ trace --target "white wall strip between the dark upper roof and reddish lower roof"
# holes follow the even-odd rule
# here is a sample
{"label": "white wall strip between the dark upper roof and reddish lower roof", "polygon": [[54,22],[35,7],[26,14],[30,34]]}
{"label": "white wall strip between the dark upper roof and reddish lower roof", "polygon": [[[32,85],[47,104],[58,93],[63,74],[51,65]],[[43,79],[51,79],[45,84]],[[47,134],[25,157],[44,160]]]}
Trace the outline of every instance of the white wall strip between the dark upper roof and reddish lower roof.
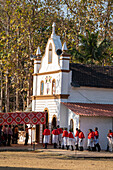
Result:
{"label": "white wall strip between the dark upper roof and reddish lower roof", "polygon": [[70,87],[68,102],[113,104],[113,89]]}

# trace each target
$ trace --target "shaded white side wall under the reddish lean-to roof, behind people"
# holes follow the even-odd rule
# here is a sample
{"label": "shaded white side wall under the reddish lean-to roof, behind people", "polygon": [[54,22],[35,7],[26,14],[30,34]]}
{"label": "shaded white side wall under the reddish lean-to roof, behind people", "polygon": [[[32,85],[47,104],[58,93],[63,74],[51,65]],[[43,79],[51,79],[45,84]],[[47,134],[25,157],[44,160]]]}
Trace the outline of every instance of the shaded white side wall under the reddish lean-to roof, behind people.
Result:
{"label": "shaded white side wall under the reddish lean-to roof, behind people", "polygon": [[108,130],[112,129],[112,126],[112,118],[80,116],[80,129],[84,132],[85,135],[85,149],[87,148],[87,135],[89,133],[88,129],[94,130],[95,127],[98,127],[100,146],[102,149],[106,150],[107,134]]}

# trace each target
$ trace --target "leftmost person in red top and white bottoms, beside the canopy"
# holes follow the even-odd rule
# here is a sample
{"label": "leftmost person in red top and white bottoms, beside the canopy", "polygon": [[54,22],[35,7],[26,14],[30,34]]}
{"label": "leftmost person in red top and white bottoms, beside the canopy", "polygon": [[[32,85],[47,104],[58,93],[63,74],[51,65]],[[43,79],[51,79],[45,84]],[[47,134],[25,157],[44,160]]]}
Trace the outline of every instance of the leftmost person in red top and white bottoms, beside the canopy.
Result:
{"label": "leftmost person in red top and white bottoms, beside the canopy", "polygon": [[44,142],[45,143],[45,149],[47,149],[47,144],[49,143],[50,140],[50,130],[48,129],[48,126],[46,126],[46,129],[43,132],[44,135]]}

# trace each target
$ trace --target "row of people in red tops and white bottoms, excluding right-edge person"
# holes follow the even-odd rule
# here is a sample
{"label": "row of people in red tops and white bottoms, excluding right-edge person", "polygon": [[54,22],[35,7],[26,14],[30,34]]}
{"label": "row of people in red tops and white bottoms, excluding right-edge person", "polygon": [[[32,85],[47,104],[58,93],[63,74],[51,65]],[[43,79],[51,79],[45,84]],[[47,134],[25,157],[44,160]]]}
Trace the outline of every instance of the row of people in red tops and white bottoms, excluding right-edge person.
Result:
{"label": "row of people in red tops and white bottoms, excluding right-edge person", "polygon": [[[50,141],[50,130],[48,127],[44,130],[44,140],[43,143],[45,144],[45,149],[47,149],[47,144]],[[67,128],[62,129],[59,126],[57,128],[54,128],[52,131],[52,143],[54,144],[54,148],[62,148],[62,149],[71,149],[72,151],[80,150],[83,151],[83,143],[84,143],[84,133],[76,128],[75,135],[71,132],[71,130],[68,132]],[[88,150],[89,151],[96,151],[98,152],[101,150],[99,145],[99,132],[98,128],[96,127],[93,131],[92,129],[89,129],[88,133]]]}

